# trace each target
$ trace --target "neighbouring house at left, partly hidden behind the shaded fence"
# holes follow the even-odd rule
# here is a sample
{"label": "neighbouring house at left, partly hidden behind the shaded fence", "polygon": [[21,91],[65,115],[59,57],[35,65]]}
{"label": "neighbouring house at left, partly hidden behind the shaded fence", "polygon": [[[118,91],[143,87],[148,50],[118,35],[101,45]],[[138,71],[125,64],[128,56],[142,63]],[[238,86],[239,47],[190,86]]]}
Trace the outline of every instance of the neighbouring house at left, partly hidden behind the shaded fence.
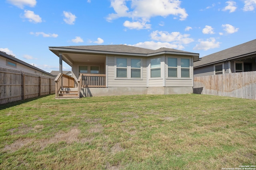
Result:
{"label": "neighbouring house at left, partly hidden behind the shaded fence", "polygon": [[25,63],[24,61],[21,61],[14,56],[8,55],[2,51],[0,51],[0,67],[54,77],[52,74],[41,70],[40,68],[32,66],[31,64]]}

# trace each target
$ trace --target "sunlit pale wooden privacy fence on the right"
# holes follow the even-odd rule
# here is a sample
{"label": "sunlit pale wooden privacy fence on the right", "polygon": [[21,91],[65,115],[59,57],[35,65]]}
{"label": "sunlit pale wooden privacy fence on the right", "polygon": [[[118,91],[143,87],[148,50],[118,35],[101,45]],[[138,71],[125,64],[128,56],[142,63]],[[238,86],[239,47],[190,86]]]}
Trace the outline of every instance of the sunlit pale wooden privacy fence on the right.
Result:
{"label": "sunlit pale wooden privacy fence on the right", "polygon": [[256,100],[256,71],[194,77],[194,93]]}

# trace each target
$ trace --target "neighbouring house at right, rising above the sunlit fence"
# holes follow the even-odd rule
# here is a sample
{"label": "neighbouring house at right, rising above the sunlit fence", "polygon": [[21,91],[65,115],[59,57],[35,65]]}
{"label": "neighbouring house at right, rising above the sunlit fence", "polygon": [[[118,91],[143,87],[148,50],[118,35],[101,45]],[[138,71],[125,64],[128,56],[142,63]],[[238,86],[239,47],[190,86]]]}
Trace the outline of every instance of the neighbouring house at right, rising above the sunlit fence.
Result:
{"label": "neighbouring house at right, rising above the sunlit fence", "polygon": [[194,76],[256,71],[256,39],[202,57],[194,63]]}

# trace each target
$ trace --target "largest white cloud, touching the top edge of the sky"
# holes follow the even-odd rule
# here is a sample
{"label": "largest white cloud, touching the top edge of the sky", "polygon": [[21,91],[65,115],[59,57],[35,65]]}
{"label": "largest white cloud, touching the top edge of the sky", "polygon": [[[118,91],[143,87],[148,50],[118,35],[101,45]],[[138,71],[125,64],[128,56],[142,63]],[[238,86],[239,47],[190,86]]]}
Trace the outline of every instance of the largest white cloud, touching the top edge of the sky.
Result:
{"label": "largest white cloud, touching the top edge of the sky", "polygon": [[[130,4],[130,8],[126,5]],[[115,13],[109,14],[107,21],[112,21],[121,17],[132,18],[132,22],[126,24],[138,24],[140,21],[144,25],[143,29],[149,29],[146,22],[150,21],[151,17],[169,15],[179,16],[180,20],[185,20],[188,16],[186,10],[180,7],[179,0],[111,0],[111,7],[114,8]],[[146,26],[147,25],[147,26]]]}

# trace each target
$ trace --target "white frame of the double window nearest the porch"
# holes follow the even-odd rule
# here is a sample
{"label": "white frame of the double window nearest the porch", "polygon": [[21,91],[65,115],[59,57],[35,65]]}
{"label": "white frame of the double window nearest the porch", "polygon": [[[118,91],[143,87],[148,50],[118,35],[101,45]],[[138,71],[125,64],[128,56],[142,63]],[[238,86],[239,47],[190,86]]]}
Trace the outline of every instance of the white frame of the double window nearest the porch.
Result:
{"label": "white frame of the double window nearest the porch", "polygon": [[[116,66],[116,59],[127,59],[127,67],[118,67]],[[132,78],[131,77],[131,59],[137,59],[140,60],[140,68],[136,68],[136,69],[140,69],[140,78]],[[142,75],[142,58],[136,58],[136,57],[119,57],[119,56],[115,56],[114,57],[114,64],[115,64],[115,79],[116,80],[142,80],[143,79],[143,75]],[[127,69],[127,77],[116,77],[116,68],[126,68]]]}

